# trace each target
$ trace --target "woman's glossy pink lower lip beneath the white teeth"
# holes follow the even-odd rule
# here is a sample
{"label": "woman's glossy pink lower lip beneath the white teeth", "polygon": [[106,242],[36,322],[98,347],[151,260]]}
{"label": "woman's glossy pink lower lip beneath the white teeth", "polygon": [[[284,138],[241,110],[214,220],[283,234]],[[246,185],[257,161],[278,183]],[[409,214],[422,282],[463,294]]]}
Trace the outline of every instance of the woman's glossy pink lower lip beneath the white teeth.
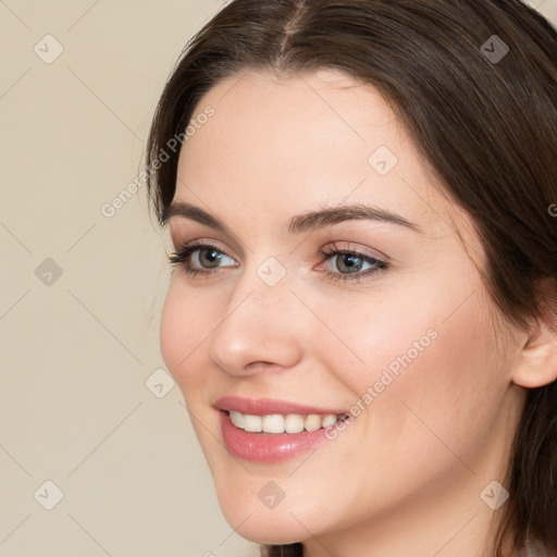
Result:
{"label": "woman's glossy pink lower lip beneath the white teeth", "polygon": [[222,436],[230,453],[252,462],[281,462],[326,440],[325,428],[300,433],[250,433],[236,428],[228,412],[220,410]]}

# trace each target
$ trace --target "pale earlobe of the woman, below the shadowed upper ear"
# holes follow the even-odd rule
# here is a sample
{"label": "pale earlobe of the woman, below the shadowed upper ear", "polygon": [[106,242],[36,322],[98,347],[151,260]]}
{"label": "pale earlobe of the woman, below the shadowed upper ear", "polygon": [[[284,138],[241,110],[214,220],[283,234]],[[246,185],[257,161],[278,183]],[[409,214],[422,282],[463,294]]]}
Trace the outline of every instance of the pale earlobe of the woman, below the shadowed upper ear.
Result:
{"label": "pale earlobe of the woman, below the shadowed upper ear", "polygon": [[557,331],[555,319],[546,317],[535,320],[522,348],[512,372],[516,385],[535,388],[557,380]]}

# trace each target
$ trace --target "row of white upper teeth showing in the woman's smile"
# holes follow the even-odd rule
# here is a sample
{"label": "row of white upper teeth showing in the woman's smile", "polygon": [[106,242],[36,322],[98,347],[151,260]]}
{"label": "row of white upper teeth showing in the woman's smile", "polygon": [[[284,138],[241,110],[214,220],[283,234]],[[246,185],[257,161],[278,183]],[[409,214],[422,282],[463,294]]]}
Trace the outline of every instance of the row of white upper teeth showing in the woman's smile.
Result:
{"label": "row of white upper teeth showing in the woman's smile", "polygon": [[228,413],[232,423],[236,425],[236,428],[252,433],[299,433],[304,430],[315,431],[320,428],[329,428],[337,422],[337,417],[334,413],[327,413],[325,416],[319,413],[310,413],[309,416],[299,413],[289,413],[286,416],[280,413],[251,416],[235,410],[230,410]]}

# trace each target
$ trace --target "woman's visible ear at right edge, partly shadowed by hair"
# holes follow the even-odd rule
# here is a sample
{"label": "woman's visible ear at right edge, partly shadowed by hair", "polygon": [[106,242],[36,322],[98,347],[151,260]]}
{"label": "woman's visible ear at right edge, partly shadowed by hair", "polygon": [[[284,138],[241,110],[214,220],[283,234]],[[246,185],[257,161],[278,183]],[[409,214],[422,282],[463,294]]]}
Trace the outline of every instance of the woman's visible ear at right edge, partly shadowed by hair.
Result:
{"label": "woman's visible ear at right edge, partly shadowed by hair", "polygon": [[512,371],[512,383],[533,388],[557,380],[557,301],[554,281],[542,283],[542,315],[533,321]]}

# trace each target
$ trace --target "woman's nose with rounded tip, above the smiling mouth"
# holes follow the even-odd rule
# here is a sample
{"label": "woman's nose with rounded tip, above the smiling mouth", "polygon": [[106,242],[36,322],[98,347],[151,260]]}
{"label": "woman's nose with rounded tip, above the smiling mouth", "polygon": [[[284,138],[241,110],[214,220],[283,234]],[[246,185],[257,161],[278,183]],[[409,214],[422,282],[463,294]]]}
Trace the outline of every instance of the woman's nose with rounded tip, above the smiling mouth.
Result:
{"label": "woman's nose with rounded tip, above the smiling mouth", "polygon": [[288,276],[269,286],[245,271],[209,341],[212,362],[237,376],[295,367],[307,346],[308,315],[290,286]]}

